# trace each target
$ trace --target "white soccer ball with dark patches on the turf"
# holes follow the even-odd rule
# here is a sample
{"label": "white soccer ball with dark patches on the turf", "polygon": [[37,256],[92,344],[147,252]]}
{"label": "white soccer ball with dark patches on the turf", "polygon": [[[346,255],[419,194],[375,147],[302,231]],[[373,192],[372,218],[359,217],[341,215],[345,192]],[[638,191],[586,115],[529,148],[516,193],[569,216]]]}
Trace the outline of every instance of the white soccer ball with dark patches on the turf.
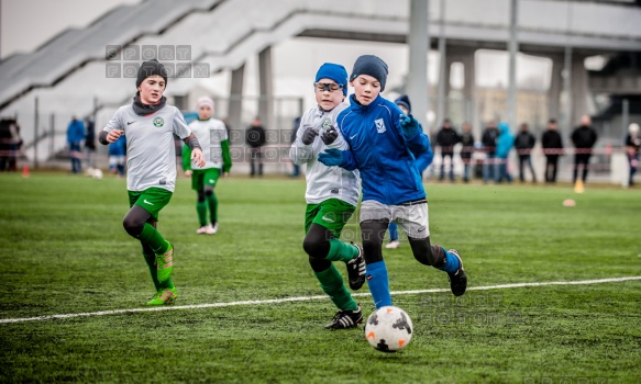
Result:
{"label": "white soccer ball with dark patches on the turf", "polygon": [[367,318],[365,337],[374,349],[396,352],[409,343],[413,326],[409,316],[399,307],[384,306]]}

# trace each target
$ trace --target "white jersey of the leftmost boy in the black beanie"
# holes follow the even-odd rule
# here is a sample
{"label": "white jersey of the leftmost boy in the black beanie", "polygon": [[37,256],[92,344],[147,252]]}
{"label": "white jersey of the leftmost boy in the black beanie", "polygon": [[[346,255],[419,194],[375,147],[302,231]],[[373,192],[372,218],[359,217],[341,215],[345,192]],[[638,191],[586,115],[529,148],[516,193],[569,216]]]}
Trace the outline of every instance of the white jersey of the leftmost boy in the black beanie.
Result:
{"label": "white jersey of the leftmost boy in the black beanie", "polygon": [[126,136],[126,189],[141,192],[152,187],[174,192],[176,188],[176,146],[191,135],[183,113],[174,105],[140,116],[132,105],[121,106],[104,131],[124,131]]}

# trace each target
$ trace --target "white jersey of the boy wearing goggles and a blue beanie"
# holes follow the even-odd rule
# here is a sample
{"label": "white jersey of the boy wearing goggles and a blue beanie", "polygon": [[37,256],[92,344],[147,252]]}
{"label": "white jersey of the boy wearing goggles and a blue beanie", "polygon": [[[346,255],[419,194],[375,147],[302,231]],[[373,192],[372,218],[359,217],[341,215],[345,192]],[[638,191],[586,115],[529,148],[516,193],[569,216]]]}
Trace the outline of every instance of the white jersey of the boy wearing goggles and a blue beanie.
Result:
{"label": "white jersey of the boy wearing goggles and a blue beanie", "polygon": [[[296,140],[289,148],[289,157],[294,163],[307,163],[305,200],[308,204],[319,204],[332,197],[352,205],[358,204],[357,171],[347,171],[341,167],[327,167],[318,161],[318,155],[327,148],[320,135],[329,125],[336,126],[336,116],[349,105],[343,102],[330,112],[314,106],[307,110],[300,118],[300,127],[296,133]],[[309,125],[319,129],[319,136],[312,144],[305,145],[302,144],[302,133]],[[347,144],[339,135],[339,138],[330,147],[345,150]]]}

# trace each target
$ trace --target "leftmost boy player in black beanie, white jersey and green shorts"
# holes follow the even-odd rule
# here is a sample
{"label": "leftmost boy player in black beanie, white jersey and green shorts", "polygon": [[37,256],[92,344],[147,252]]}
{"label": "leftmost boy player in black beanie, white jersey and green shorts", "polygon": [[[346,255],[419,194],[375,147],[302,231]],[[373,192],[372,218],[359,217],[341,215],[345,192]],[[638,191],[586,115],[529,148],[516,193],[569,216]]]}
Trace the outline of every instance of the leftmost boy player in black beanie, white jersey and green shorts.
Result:
{"label": "leftmost boy player in black beanie, white jersey and green shorts", "polygon": [[205,165],[198,139],[183,113],[166,105],[163,95],[167,71],[157,60],[144,61],[137,71],[137,93],[132,104],[121,106],[98,140],[108,145],[126,136],[126,189],[130,210],[124,216],[126,233],[139,239],[156,287],[147,305],[173,304],[177,297],[172,282],[174,247],[156,229],[158,213],[169,203],[176,184],[174,134],[191,149],[198,165]]}

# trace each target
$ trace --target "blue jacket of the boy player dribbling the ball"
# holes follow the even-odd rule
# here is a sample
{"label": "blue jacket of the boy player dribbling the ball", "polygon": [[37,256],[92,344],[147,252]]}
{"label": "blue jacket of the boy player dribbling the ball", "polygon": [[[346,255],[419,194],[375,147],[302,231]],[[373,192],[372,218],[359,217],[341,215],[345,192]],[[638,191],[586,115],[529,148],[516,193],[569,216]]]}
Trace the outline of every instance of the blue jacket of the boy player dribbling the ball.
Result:
{"label": "blue jacket of the boy player dribbling the ball", "polygon": [[358,169],[363,201],[398,205],[426,197],[415,155],[431,150],[430,139],[420,129],[413,137],[405,137],[401,115],[394,102],[380,95],[361,105],[352,94],[350,108],[336,118],[342,139],[350,148],[343,153],[341,167]]}

